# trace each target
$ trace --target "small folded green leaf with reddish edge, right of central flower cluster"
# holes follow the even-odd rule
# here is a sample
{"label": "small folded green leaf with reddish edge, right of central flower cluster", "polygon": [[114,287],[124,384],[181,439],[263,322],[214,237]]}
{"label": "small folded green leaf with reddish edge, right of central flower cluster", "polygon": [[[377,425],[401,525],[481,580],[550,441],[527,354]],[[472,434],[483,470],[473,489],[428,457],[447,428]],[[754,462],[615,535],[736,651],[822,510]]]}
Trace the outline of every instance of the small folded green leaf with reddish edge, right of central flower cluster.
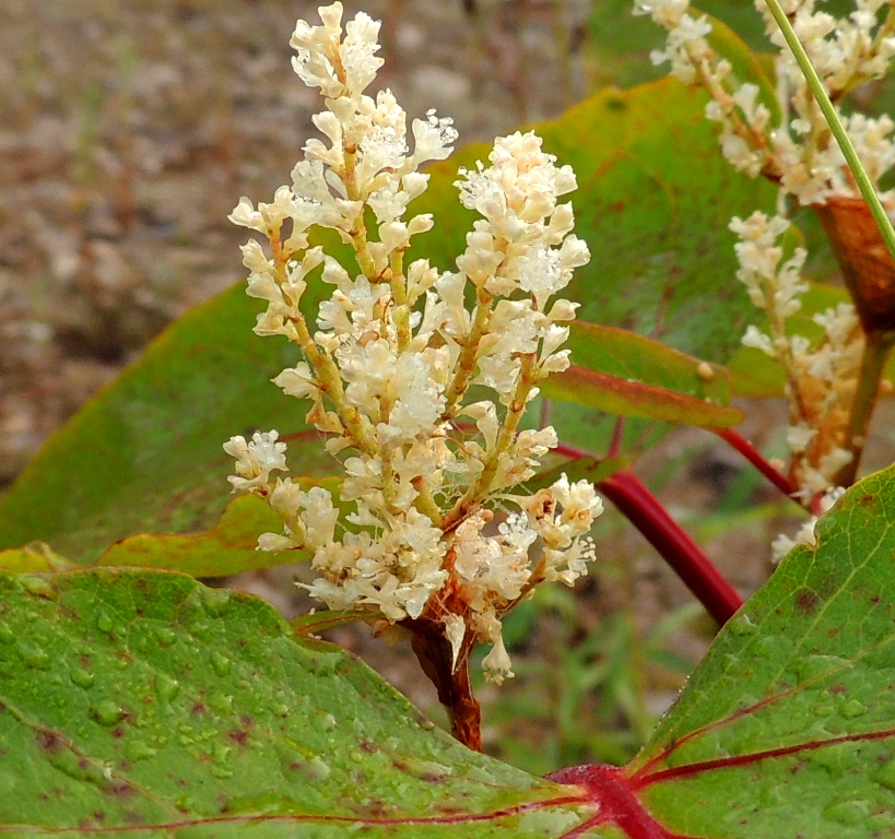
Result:
{"label": "small folded green leaf with reddish edge, right of central flower cluster", "polygon": [[622,416],[728,427],[742,422],[727,407],[730,376],[670,346],[613,327],[575,322],[569,348],[577,364],[541,385],[550,399]]}

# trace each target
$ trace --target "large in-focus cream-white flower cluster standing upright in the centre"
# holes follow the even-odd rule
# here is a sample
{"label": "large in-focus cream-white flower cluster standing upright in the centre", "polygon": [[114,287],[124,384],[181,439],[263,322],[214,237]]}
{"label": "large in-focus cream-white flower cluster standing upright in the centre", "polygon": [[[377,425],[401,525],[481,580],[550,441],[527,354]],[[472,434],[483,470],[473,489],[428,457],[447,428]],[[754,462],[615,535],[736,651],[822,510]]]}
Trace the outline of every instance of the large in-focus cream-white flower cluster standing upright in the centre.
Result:
{"label": "large in-focus cream-white flower cluster standing upright in the centre", "polygon": [[[570,205],[557,203],[575,176],[533,133],[498,139],[491,165],[457,182],[482,216],[457,271],[405,265],[411,238],[433,226],[428,215],[405,216],[428,181],[419,167],[447,157],[457,133],[429,111],[412,123],[411,152],[391,93],[363,93],[381,64],[379,24],[362,13],[343,34],[340,3],[319,11],[323,25],[299,21],[291,44],[296,72],[325,97],[314,121],[328,142],[308,141],[292,186],[257,209],[242,198],[231,220],[270,241],[270,258],[255,240],[243,248],[248,294],[268,303],[255,331],[302,348],[304,361],[274,381],[310,401],[307,420],[343,459],[341,500],[353,511],[341,517],[322,488],[272,481],[285,469],[276,432],[226,444],[237,458],[231,482],[268,498],[283,521],[259,548],[311,554],[314,596],[411,629],[435,624],[455,665],[473,641],[491,642],[484,666],[499,682],[511,675],[502,615],[538,582],[572,584],[586,572],[602,510],[590,484],[565,476],[533,496],[510,493],[557,444],[552,427],[519,423],[537,382],[568,366],[561,347],[576,304],[554,295],[589,259],[570,235]],[[360,272],[311,247],[313,225],[338,231]],[[301,308],[309,282],[333,288],[316,329]],[[470,402],[473,385],[496,401]]]}

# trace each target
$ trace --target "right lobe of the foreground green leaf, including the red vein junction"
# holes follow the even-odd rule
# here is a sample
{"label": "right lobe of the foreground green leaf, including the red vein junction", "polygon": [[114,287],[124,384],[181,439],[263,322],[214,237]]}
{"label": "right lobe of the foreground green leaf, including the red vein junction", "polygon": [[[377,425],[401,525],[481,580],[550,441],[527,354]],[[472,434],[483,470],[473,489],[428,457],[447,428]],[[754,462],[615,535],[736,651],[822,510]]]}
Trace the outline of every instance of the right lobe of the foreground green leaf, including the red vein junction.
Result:
{"label": "right lobe of the foreground green leaf, including the red vein junction", "polygon": [[816,540],[721,630],[629,766],[552,777],[635,839],[892,835],[895,468],[856,484]]}

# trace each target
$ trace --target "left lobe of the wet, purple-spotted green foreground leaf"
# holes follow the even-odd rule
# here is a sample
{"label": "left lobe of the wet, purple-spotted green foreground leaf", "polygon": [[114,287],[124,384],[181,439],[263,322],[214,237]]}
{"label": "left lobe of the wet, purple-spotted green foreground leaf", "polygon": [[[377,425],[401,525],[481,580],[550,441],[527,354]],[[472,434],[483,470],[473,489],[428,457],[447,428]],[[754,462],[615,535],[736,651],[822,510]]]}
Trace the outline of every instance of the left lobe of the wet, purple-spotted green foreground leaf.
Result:
{"label": "left lobe of the wet, purple-spotted green foreground leaf", "polygon": [[469,752],[254,598],[81,570],[2,575],[0,604],[0,825],[16,837],[533,838],[580,822],[565,790]]}

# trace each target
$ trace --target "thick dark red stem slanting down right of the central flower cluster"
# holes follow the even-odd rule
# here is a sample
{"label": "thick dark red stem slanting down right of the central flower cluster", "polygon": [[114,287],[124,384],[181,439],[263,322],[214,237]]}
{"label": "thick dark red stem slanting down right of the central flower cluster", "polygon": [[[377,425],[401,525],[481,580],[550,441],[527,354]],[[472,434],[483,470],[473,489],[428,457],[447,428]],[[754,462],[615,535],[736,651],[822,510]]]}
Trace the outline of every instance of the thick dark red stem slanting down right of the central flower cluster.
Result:
{"label": "thick dark red stem slanting down right of the central flower cluster", "polygon": [[[560,444],[553,451],[576,460],[592,457],[566,444]],[[743,605],[735,589],[637,475],[623,469],[600,481],[597,488],[644,534],[720,626]]]}

